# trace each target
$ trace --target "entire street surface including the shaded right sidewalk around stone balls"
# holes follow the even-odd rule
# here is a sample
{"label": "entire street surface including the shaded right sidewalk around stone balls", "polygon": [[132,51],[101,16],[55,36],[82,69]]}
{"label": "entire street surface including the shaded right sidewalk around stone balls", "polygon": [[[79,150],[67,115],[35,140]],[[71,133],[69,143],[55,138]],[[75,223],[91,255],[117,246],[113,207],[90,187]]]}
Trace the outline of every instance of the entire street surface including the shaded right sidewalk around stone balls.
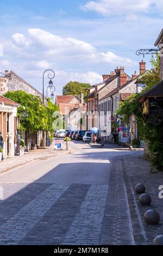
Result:
{"label": "entire street surface including the shaded right sidewalk around stone balls", "polygon": [[[154,197],[161,174],[149,174],[158,175],[152,187],[141,152],[92,149],[80,142],[71,143],[71,150],[75,153],[1,174],[1,245],[150,244],[162,225],[143,223],[145,209],[137,204],[133,188],[142,181]],[[143,164],[141,180],[135,173],[137,159]],[[159,207],[162,214],[161,200]]]}

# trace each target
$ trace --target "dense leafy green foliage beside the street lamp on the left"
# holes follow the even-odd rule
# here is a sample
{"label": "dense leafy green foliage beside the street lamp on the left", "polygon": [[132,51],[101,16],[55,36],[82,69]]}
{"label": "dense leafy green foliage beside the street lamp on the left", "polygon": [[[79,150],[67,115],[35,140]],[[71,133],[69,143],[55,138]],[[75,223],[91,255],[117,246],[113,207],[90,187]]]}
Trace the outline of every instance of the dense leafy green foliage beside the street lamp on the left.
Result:
{"label": "dense leafy green foliage beside the street lamp on the left", "polygon": [[4,94],[10,100],[20,103],[17,108],[17,116],[20,118],[20,130],[53,131],[53,113],[59,111],[59,107],[48,100],[47,106],[43,105],[39,96],[28,94],[21,90]]}

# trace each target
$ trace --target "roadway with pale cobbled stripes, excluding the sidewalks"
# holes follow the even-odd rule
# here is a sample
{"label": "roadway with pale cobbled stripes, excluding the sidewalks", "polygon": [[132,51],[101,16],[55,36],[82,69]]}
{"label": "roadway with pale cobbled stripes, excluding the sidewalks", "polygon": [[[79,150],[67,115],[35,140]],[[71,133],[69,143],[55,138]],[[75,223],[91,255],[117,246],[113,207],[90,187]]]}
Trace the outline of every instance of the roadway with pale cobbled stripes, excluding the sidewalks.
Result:
{"label": "roadway with pale cobbled stripes, excluding the sidewalks", "polygon": [[[140,153],[91,148],[82,142],[71,142],[70,147],[72,154],[38,160],[0,175],[0,244],[111,243],[105,223],[113,200],[109,189],[115,187],[110,185],[112,159]],[[129,218],[127,204],[122,211]],[[125,225],[126,243],[133,244],[129,224]],[[110,228],[111,235],[118,236],[120,230]]]}

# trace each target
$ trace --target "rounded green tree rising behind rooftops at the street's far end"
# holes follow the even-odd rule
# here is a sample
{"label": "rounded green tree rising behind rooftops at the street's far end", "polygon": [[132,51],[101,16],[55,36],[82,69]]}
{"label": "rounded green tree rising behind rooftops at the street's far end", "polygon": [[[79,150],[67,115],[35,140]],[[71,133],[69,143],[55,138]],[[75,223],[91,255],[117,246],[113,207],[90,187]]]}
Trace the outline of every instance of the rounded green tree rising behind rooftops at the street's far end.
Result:
{"label": "rounded green tree rising behind rooftops at the street's far end", "polygon": [[85,92],[85,89],[90,88],[91,84],[89,83],[79,83],[79,82],[72,82],[66,84],[66,86],[63,87],[62,94],[63,95],[78,95],[81,96],[81,93],[84,93],[84,96],[87,95]]}

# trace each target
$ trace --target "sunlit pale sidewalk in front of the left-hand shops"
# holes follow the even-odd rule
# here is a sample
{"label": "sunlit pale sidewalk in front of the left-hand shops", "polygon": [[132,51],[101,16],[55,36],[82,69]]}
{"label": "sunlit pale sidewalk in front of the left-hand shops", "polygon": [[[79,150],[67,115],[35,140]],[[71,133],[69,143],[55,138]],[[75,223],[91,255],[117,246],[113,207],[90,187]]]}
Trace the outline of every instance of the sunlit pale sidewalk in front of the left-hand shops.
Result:
{"label": "sunlit pale sidewalk in front of the left-hand shops", "polygon": [[28,154],[24,154],[22,156],[14,156],[12,158],[4,159],[4,161],[0,162],[0,173],[6,172],[7,170],[16,168],[18,166],[22,166],[26,163],[39,160],[46,159],[48,157],[54,157],[58,155],[65,155],[70,153],[70,150],[65,150],[66,144],[62,142],[62,150],[54,150],[54,144],[51,147],[39,148],[36,150],[28,151]]}

